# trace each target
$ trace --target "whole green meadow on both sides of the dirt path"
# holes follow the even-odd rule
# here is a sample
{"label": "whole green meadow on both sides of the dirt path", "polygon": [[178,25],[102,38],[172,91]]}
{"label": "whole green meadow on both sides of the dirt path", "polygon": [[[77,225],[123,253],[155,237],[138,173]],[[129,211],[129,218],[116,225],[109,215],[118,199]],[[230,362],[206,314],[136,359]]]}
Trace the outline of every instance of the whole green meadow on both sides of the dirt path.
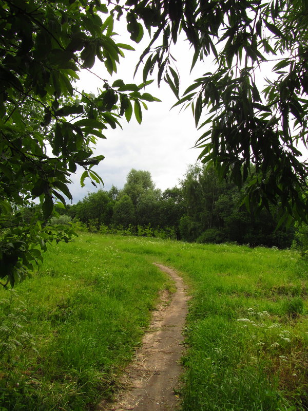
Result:
{"label": "whole green meadow on both sides of the dirt path", "polygon": [[192,295],[183,411],[303,411],[308,263],[291,250],[82,234],[0,291],[0,410],[95,409],[141,340],[159,290]]}

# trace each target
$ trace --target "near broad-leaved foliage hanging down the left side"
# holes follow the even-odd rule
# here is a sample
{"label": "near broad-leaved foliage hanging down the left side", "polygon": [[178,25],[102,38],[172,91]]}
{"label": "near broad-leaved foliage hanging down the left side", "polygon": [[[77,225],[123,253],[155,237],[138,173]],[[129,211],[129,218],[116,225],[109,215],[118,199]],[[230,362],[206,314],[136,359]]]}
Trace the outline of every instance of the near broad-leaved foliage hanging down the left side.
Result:
{"label": "near broad-leaved foliage hanging down the left side", "polygon": [[[0,277],[11,286],[42,258],[48,242],[71,238],[70,230],[46,221],[56,200],[72,198],[69,176],[78,166],[82,185],[86,177],[102,182],[93,166],[104,156],[94,156],[92,146],[105,138],[103,130],[121,126],[120,118],[129,121],[132,113],[140,122],[144,101],[157,100],[142,91],[148,82],[100,78],[97,96],[75,88],[79,71],[90,70],[95,58],[112,74],[123,50],[133,50],[113,40],[111,11],[90,0],[1,3]],[[35,199],[42,213],[28,227],[20,210]]]}

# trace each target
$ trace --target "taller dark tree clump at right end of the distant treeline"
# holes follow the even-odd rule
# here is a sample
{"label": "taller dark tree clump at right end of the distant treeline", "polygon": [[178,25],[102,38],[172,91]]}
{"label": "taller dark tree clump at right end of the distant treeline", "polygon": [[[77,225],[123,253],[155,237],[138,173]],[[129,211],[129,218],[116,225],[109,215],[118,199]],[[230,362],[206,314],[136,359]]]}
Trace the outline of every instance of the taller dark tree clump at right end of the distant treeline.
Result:
{"label": "taller dark tree clump at right end of the distant treeline", "polygon": [[[249,181],[248,181],[249,184]],[[233,182],[220,181],[214,167],[191,165],[181,180],[186,215],[180,220],[187,241],[231,241],[251,246],[290,247],[294,227],[277,228],[276,209],[251,212],[242,205],[243,192]]]}

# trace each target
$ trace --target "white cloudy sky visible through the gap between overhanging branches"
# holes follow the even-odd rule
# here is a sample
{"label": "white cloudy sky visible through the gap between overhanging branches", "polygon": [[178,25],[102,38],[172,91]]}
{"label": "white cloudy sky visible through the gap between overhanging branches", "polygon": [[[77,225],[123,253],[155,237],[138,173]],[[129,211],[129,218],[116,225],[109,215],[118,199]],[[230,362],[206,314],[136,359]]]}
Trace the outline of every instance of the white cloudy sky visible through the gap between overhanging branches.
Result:
{"label": "white cloudy sky visible through the gap between overhanging branches", "polygon": [[[133,79],[133,72],[146,44],[136,45],[120,36],[114,40],[130,43],[136,48],[136,52],[124,50],[125,59],[122,59],[118,73],[113,74],[112,82],[123,79],[127,83],[140,84],[142,66],[135,79]],[[174,54],[180,69],[181,90],[184,91],[193,79],[208,71],[208,67],[204,64],[199,65],[189,78],[192,51],[189,50],[188,43],[179,42]],[[91,71],[104,79],[108,78],[108,73],[100,62],[95,63]],[[95,93],[98,87],[103,87],[101,81],[86,70],[83,70],[80,78],[80,89]],[[105,159],[95,167],[95,171],[103,178],[104,190],[109,190],[112,184],[119,189],[123,188],[126,176],[132,168],[149,171],[157,188],[165,190],[177,185],[178,180],[185,174],[187,166],[197,160],[199,151],[191,147],[194,146],[200,132],[195,128],[191,109],[180,113],[179,107],[170,110],[177,99],[164,81],[160,88],[157,87],[156,82],[153,82],[145,91],[158,97],[162,102],[147,104],[148,110],[143,110],[141,125],[134,118],[129,123],[123,118],[121,122],[123,130],[120,127],[105,130],[107,139],[98,141],[95,154],[102,154]],[[86,186],[81,188],[79,178],[82,171],[81,169],[72,176],[73,184],[70,190],[73,202],[79,201],[88,191],[95,191],[89,180],[86,180]]]}

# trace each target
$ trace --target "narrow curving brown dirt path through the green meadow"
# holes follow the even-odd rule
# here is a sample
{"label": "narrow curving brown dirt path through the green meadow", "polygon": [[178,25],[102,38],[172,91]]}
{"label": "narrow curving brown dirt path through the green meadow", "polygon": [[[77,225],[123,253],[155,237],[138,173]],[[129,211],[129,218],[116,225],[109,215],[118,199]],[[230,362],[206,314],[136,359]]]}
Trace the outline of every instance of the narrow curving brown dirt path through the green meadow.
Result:
{"label": "narrow curving brown dirt path through the green meadow", "polygon": [[[162,295],[153,311],[149,329],[145,333],[136,358],[124,375],[124,391],[117,402],[102,404],[101,410],[169,411],[177,408],[174,388],[181,373],[179,360],[183,346],[182,330],[187,314],[187,300],[182,278],[161,264],[154,263],[175,281],[177,291]],[[171,298],[171,299],[170,299]]]}

